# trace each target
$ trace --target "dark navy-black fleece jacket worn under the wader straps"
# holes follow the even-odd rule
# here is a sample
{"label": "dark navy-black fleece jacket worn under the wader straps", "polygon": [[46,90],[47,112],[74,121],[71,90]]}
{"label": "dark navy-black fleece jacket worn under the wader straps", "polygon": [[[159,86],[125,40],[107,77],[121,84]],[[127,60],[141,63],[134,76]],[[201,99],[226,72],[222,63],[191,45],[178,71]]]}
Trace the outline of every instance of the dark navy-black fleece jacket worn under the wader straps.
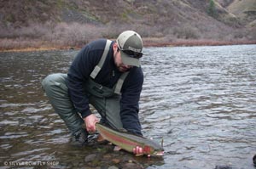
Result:
{"label": "dark navy-black fleece jacket worn under the wader straps", "polygon": [[[90,73],[100,61],[104,52],[107,39],[99,39],[90,42],[82,48],[73,60],[67,73],[67,87],[73,104],[81,113],[82,117],[91,114],[89,99],[84,90],[84,83],[90,78]],[[102,70],[95,78],[95,82],[102,86],[112,88],[121,76],[113,60],[113,42],[109,48],[107,59]],[[143,70],[141,67],[133,66],[125,78],[121,89],[120,117],[123,127],[129,131],[142,135],[141,124],[138,118],[140,93],[143,88]]]}

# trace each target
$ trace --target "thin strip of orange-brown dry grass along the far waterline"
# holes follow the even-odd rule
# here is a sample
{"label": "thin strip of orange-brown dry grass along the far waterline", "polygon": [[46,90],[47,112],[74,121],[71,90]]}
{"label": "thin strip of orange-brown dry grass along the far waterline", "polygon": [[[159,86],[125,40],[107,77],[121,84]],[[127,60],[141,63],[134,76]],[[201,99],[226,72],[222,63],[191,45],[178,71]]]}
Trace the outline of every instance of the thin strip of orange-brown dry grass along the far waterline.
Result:
{"label": "thin strip of orange-brown dry grass along the far waterline", "polygon": [[[0,44],[0,52],[32,52],[46,50],[79,50],[81,45],[60,44],[58,42],[40,42],[40,41],[20,41],[10,39],[2,39],[7,42],[5,45]],[[1,41],[2,41],[1,40]],[[114,39],[112,39],[114,40]],[[2,41],[2,42],[3,42]],[[12,42],[12,45],[9,43]],[[256,41],[249,40],[231,40],[218,41],[210,39],[175,39],[166,40],[165,37],[146,37],[143,38],[144,47],[181,47],[181,46],[224,46],[224,45],[241,45],[241,44],[256,44]]]}

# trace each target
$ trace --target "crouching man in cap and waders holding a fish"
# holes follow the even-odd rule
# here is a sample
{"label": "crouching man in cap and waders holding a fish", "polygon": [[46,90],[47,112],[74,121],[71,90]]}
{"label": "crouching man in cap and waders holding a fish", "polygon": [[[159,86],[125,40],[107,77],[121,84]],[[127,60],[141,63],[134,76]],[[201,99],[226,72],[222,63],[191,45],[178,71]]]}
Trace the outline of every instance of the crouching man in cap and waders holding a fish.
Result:
{"label": "crouching man in cap and waders holding a fish", "polygon": [[[142,51],[140,35],[124,31],[116,42],[100,39],[87,44],[67,75],[53,74],[44,79],[44,91],[72,132],[73,144],[86,144],[89,132],[96,131],[99,120],[90,112],[89,104],[102,116],[102,123],[142,135],[138,118]],[[134,153],[142,153],[142,149],[137,147]]]}

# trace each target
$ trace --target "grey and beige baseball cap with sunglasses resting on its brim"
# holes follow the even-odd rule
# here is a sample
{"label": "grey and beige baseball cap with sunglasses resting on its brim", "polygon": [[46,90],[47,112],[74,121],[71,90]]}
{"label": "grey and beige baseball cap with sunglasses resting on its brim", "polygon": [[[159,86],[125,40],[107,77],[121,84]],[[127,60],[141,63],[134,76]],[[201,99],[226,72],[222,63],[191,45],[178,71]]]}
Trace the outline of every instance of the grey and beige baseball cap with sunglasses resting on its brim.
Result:
{"label": "grey and beige baseball cap with sunglasses resting on its brim", "polygon": [[121,52],[122,62],[125,65],[141,65],[140,58],[143,57],[143,40],[135,31],[124,31],[116,40]]}

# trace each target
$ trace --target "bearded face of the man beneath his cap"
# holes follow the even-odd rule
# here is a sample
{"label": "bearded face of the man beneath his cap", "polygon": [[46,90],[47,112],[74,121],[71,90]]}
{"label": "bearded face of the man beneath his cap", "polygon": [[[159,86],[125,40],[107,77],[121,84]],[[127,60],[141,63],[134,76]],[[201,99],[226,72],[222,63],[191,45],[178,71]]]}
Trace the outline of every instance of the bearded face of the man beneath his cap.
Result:
{"label": "bearded face of the man beneath his cap", "polygon": [[113,45],[113,60],[114,64],[118,68],[119,71],[125,72],[131,69],[131,65],[125,65],[122,62],[121,53],[118,51],[117,45]]}

